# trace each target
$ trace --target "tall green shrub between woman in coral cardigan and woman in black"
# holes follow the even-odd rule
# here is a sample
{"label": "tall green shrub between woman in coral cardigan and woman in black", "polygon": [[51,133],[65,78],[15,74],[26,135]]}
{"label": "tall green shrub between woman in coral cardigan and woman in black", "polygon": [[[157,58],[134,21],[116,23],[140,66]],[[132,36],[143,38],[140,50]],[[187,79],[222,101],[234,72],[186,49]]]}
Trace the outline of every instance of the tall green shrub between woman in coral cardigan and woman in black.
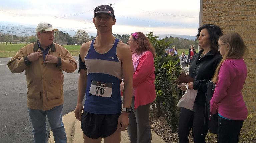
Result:
{"label": "tall green shrub between woman in coral cardigan and woman in black", "polygon": [[158,40],[158,36],[153,36],[153,32],[149,32],[147,37],[155,47],[156,53],[154,58],[156,99],[152,106],[158,116],[164,113],[172,132],[177,132],[179,108],[176,105],[179,100],[177,96],[179,90],[173,83],[181,72],[181,69],[175,66],[180,61],[175,61],[175,57],[172,56],[163,56],[170,42],[166,42],[165,39]]}

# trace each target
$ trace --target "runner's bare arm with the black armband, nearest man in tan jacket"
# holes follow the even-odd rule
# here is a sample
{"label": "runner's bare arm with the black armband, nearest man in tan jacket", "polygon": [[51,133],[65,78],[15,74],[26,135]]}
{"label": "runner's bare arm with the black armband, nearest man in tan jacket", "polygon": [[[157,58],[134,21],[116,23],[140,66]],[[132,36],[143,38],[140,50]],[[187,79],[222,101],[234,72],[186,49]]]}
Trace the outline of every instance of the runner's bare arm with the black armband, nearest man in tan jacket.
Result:
{"label": "runner's bare arm with the black armband, nearest man in tan jacket", "polygon": [[[84,58],[86,53],[89,50],[90,42],[84,43],[80,48],[80,56],[82,62],[84,62]],[[78,78],[78,96],[77,96],[77,105],[75,109],[76,119],[81,121],[82,119],[82,110],[83,110],[83,99],[86,92],[86,83],[87,83],[87,70],[80,69],[80,75]]]}

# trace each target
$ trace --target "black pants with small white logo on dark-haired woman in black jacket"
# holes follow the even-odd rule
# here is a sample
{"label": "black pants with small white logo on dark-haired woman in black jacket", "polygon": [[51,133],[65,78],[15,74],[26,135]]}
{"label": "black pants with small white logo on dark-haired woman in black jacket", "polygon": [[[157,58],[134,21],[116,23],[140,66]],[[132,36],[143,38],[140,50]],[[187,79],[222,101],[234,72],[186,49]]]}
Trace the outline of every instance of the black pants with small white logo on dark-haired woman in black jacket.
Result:
{"label": "black pants with small white logo on dark-haired woman in black jacket", "polygon": [[208,122],[204,125],[204,106],[198,107],[195,112],[181,108],[178,127],[179,143],[188,143],[191,128],[193,141],[195,143],[205,143]]}

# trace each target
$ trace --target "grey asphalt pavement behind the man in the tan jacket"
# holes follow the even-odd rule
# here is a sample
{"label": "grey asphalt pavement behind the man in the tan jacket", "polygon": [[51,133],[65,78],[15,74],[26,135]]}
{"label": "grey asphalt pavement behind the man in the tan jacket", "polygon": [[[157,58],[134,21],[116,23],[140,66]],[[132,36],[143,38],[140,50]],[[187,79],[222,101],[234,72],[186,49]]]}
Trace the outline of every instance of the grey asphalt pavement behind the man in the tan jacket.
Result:
{"label": "grey asphalt pavement behind the man in the tan jacket", "polygon": [[[74,57],[78,60],[78,57]],[[26,107],[25,72],[11,73],[7,68],[10,58],[0,58],[0,143],[32,143],[32,126]],[[74,110],[77,101],[78,69],[74,73],[64,74],[65,115]],[[47,121],[47,133],[50,125]]]}

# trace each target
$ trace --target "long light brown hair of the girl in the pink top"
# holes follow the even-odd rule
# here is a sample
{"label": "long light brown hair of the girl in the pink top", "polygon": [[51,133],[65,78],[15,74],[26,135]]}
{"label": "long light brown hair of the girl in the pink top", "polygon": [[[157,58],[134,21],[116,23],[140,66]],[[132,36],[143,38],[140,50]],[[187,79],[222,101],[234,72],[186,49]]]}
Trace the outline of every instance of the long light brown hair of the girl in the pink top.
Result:
{"label": "long light brown hair of the girl in the pink top", "polygon": [[228,33],[228,34],[222,35],[219,37],[219,40],[221,40],[224,43],[229,43],[230,47],[228,51],[225,53],[225,55],[223,56],[221,62],[219,63],[218,67],[215,70],[215,73],[212,79],[214,83],[218,82],[220,67],[226,59],[240,59],[244,55],[248,54],[248,49],[245,46],[242,37],[238,33]]}

